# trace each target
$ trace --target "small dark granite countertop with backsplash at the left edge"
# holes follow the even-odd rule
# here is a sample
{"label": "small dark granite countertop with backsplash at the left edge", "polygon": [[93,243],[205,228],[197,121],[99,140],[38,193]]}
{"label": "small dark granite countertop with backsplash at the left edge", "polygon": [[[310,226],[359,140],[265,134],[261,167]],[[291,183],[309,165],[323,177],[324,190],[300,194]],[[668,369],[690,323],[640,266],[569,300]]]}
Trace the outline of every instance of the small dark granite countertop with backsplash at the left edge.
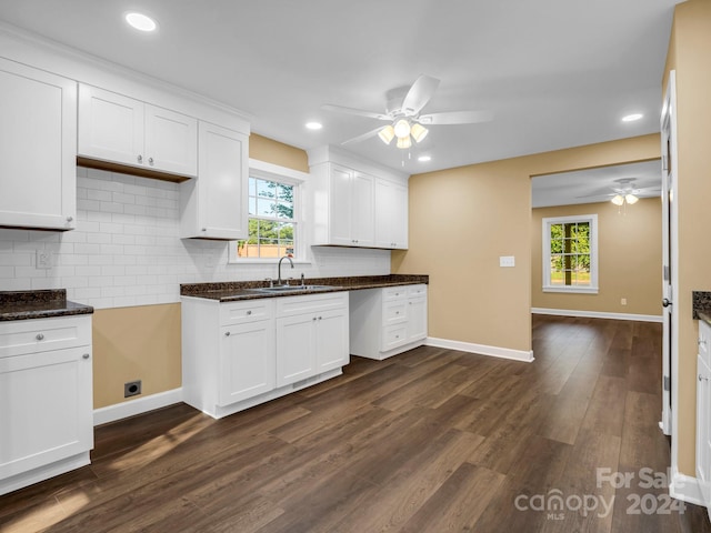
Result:
{"label": "small dark granite countertop with backsplash at the left edge", "polygon": [[0,321],[91,314],[93,308],[67,300],[64,289],[0,291]]}

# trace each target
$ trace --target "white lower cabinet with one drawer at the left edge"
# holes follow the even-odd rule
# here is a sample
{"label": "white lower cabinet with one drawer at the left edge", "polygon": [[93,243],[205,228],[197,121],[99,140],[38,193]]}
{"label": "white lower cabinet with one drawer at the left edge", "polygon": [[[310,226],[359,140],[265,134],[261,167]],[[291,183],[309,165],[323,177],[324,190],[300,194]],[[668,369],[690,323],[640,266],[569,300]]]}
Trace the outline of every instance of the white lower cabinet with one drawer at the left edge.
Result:
{"label": "white lower cabinet with one drawer at the left edge", "polygon": [[0,323],[0,494],[89,464],[91,365],[91,315]]}

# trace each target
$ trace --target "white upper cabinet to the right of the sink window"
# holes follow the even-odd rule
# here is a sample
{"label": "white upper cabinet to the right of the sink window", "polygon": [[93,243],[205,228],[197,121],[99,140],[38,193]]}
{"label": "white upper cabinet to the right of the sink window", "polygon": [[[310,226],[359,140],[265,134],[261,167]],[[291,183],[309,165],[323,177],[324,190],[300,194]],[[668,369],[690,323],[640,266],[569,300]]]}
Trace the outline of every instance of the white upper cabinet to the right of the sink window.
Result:
{"label": "white upper cabinet to the right of the sink window", "polygon": [[314,245],[408,248],[407,177],[323,147],[309,151]]}

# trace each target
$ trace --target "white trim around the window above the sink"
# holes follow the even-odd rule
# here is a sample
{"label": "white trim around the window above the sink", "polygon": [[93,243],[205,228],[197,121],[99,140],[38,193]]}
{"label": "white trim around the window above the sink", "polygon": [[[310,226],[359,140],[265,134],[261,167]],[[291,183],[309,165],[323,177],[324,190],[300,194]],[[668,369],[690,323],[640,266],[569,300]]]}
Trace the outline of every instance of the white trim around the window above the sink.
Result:
{"label": "white trim around the window above the sink", "polygon": [[[307,255],[307,242],[306,242],[306,229],[303,228],[304,220],[304,200],[303,200],[303,184],[308,181],[309,174],[299,170],[289,169],[287,167],[280,167],[278,164],[268,163],[258,159],[249,160],[249,177],[261,178],[270,181],[279,181],[294,185],[293,203],[297,209],[297,217],[293,219],[297,225],[297,245],[294,250],[294,264],[310,264],[311,260]],[[237,254],[237,241],[230,241],[230,253],[228,257],[229,264],[273,264],[274,259],[267,258],[240,258]]]}

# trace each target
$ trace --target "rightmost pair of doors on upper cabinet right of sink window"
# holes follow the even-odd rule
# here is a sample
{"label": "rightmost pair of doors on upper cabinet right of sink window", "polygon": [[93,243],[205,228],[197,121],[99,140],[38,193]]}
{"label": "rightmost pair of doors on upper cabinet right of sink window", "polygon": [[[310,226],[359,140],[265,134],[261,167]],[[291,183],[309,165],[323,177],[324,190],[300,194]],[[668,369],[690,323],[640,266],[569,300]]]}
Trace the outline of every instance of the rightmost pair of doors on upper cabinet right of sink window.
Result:
{"label": "rightmost pair of doors on upper cabinet right of sink window", "polygon": [[393,181],[375,181],[375,247],[408,248],[408,188]]}

